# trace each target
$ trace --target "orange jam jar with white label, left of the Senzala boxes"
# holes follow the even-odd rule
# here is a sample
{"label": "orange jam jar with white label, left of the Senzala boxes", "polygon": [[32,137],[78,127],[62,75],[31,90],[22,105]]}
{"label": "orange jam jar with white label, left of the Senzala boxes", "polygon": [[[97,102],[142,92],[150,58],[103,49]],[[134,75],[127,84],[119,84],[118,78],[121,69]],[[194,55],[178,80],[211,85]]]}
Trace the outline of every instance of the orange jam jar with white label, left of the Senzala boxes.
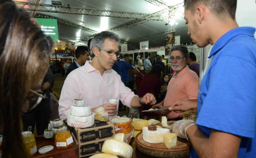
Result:
{"label": "orange jam jar with white label, left of the Senzala boxes", "polygon": [[69,130],[66,130],[66,131],[59,131],[56,133],[54,143],[57,149],[66,149],[71,147],[74,141]]}

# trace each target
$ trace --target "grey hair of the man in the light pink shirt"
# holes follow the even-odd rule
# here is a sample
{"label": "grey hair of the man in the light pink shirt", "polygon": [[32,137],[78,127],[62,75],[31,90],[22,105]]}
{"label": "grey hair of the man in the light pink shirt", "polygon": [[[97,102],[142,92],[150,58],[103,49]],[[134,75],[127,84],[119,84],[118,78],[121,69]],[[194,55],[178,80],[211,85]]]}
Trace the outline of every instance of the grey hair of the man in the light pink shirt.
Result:
{"label": "grey hair of the man in the light pink shirt", "polygon": [[110,31],[102,31],[101,33],[95,34],[90,45],[91,54],[93,54],[93,56],[94,56],[93,47],[96,46],[98,48],[102,48],[103,43],[107,38],[109,38],[110,40],[115,40],[116,42],[119,42],[120,40],[117,34]]}

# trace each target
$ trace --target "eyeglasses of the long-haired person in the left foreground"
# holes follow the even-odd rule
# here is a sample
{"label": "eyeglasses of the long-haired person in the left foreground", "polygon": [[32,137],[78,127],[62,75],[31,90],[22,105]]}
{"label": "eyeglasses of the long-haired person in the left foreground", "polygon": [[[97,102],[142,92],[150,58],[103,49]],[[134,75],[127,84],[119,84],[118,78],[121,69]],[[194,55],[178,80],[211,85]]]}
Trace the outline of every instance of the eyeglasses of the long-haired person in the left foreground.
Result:
{"label": "eyeglasses of the long-haired person in the left foreground", "polygon": [[32,92],[33,95],[26,98],[21,110],[23,113],[31,112],[43,99],[47,99],[45,94],[38,93],[32,89],[29,89],[29,91]]}

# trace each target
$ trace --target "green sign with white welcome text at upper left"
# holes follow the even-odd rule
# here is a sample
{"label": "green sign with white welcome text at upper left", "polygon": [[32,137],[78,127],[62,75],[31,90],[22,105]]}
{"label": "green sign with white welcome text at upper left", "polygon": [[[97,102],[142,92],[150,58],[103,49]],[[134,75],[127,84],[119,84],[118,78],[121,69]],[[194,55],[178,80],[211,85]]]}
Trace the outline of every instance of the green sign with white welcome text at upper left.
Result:
{"label": "green sign with white welcome text at upper left", "polygon": [[34,18],[41,30],[54,42],[59,40],[57,19]]}

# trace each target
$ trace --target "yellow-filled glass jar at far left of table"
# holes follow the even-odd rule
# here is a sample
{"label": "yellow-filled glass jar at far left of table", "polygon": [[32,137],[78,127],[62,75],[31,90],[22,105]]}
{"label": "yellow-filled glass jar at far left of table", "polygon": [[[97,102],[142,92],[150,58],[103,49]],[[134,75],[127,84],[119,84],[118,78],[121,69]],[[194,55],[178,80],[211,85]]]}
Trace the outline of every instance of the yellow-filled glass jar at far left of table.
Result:
{"label": "yellow-filled glass jar at far left of table", "polygon": [[22,134],[22,140],[23,144],[25,145],[25,148],[27,150],[27,153],[30,155],[30,157],[34,156],[36,154],[36,139],[34,137],[34,134]]}

